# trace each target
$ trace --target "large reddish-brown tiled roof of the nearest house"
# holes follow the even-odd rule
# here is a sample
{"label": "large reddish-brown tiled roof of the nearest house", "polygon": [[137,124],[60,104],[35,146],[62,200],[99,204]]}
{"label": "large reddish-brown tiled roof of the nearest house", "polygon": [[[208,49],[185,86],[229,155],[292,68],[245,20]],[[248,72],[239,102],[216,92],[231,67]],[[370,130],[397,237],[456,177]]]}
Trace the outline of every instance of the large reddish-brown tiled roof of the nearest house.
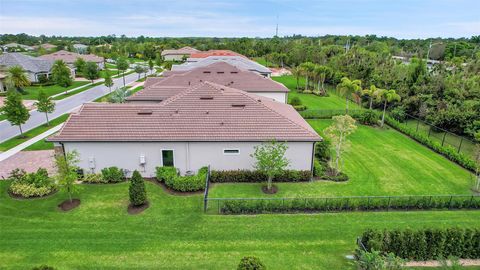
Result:
{"label": "large reddish-brown tiled roof of the nearest house", "polygon": [[[139,112],[149,112],[148,114]],[[151,113],[151,114],[150,114]],[[50,141],[319,141],[287,104],[203,82],[160,104],[85,104]]]}

